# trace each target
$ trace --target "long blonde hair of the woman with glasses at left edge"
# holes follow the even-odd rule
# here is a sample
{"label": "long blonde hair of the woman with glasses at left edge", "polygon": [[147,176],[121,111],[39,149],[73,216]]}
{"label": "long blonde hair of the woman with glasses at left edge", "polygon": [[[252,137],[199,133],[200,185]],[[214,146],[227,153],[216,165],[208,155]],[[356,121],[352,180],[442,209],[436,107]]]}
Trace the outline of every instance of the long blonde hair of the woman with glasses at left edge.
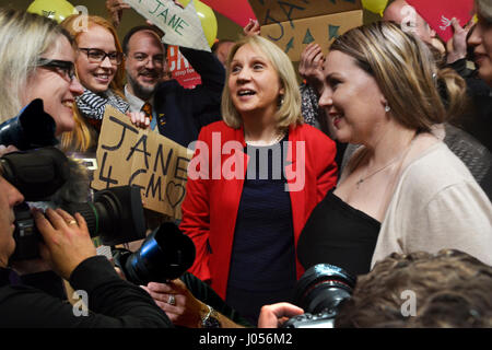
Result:
{"label": "long blonde hair of the woman with glasses at left edge", "polygon": [[37,60],[58,45],[60,35],[73,39],[55,21],[25,11],[0,9],[0,121],[23,107],[21,96],[35,72]]}

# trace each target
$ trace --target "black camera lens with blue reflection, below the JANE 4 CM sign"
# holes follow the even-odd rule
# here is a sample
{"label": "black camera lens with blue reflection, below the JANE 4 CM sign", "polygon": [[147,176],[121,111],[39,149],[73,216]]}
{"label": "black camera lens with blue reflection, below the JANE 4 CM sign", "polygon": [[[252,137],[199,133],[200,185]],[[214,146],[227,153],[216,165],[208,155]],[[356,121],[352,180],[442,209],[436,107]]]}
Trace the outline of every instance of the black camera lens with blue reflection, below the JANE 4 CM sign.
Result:
{"label": "black camera lens with blue reflection, below the JANE 4 CM sign", "polygon": [[195,244],[176,224],[164,222],[145,238],[138,252],[114,249],[113,257],[128,281],[147,285],[181,276],[195,261]]}

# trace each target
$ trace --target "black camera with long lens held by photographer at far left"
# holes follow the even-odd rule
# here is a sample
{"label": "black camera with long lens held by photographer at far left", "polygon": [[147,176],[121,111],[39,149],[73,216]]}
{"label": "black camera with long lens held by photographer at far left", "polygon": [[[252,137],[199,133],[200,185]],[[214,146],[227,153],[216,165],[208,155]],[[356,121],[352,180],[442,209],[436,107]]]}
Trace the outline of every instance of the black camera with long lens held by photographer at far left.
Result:
{"label": "black camera with long lens held by photographer at far left", "polygon": [[[56,148],[12,152],[0,159],[2,176],[15,186],[26,201],[48,201],[69,179],[70,161]],[[35,203],[32,203],[33,206]],[[99,236],[104,245],[117,245],[145,237],[140,189],[132,186],[96,191],[93,202],[67,202],[61,206],[71,214],[85,219],[91,236]],[[34,224],[30,206],[14,208],[16,248],[12,260],[39,257],[42,235]]]}

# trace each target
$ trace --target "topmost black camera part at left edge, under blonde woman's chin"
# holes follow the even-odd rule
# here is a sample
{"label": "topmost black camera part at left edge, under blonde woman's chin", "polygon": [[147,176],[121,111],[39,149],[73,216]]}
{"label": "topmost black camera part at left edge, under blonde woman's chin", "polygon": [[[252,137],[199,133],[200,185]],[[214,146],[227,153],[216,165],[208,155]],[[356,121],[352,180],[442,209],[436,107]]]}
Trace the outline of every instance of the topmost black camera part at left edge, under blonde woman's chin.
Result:
{"label": "topmost black camera part at left edge, under blonde woman's chin", "polygon": [[0,125],[0,144],[13,144],[19,150],[56,145],[55,119],[43,108],[43,100],[36,98],[21,113]]}

